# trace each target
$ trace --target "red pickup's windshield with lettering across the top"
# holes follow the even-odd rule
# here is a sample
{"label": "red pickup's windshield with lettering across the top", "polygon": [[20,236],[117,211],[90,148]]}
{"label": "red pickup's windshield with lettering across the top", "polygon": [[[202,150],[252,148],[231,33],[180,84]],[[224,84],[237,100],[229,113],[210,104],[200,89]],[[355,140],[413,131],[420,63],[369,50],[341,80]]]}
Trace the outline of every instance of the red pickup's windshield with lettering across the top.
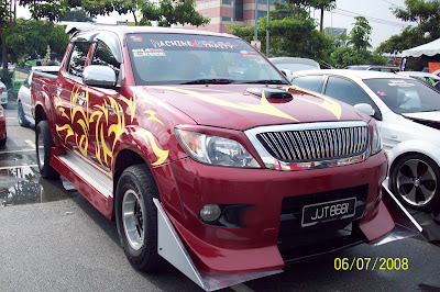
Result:
{"label": "red pickup's windshield with lettering across the top", "polygon": [[287,81],[242,40],[190,34],[129,34],[136,85]]}

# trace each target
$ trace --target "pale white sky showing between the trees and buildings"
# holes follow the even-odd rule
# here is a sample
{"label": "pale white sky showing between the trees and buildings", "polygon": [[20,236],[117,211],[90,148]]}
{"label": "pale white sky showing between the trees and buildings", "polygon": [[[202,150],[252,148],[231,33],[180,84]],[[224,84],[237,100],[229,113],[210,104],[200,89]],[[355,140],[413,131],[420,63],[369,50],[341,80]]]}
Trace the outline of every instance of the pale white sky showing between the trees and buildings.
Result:
{"label": "pale white sky showing between the trees and buildings", "polygon": [[[324,12],[324,27],[343,27],[350,33],[353,29],[354,16],[365,16],[373,27],[371,44],[373,48],[389,36],[400,33],[407,25],[415,23],[402,22],[391,11],[391,8],[405,8],[405,0],[337,0],[337,8],[332,12]],[[311,11],[311,15],[319,19],[319,11]],[[31,16],[26,8],[18,9],[18,16],[29,19]],[[117,21],[134,21],[131,14],[119,15],[113,13],[109,16],[98,16],[97,23],[116,23]]]}

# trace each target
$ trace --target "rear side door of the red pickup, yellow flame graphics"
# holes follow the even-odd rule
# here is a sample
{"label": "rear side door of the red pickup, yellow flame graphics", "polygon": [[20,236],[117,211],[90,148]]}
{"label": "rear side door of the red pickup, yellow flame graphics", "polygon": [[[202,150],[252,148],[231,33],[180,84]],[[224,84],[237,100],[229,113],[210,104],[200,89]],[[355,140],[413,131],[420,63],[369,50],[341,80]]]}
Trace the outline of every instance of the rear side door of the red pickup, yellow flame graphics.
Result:
{"label": "rear side door of the red pickup, yellow flame graphics", "polygon": [[68,60],[59,70],[56,89],[56,132],[65,145],[87,156],[89,116],[87,92],[82,83],[90,42],[79,40],[70,44]]}

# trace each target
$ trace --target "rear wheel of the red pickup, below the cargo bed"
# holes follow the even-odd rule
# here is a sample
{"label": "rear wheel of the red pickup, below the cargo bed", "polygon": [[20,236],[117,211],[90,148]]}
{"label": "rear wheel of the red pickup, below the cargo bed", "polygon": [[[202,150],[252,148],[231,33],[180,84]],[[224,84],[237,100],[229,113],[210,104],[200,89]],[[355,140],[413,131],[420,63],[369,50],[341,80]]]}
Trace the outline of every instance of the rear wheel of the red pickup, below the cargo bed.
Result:
{"label": "rear wheel of the red pickup, below the cargo bed", "polygon": [[50,165],[51,148],[55,146],[47,121],[41,121],[35,128],[36,160],[40,173],[45,179],[57,179],[59,173]]}

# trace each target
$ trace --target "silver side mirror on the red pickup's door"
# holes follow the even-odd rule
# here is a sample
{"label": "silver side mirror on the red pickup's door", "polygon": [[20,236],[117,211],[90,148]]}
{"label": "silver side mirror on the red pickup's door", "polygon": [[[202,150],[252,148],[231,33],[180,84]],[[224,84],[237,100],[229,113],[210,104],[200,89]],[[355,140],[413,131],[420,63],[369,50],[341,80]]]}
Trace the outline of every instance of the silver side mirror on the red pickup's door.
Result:
{"label": "silver side mirror on the red pickup's door", "polygon": [[82,82],[92,87],[114,88],[117,75],[108,66],[89,65],[82,71]]}

